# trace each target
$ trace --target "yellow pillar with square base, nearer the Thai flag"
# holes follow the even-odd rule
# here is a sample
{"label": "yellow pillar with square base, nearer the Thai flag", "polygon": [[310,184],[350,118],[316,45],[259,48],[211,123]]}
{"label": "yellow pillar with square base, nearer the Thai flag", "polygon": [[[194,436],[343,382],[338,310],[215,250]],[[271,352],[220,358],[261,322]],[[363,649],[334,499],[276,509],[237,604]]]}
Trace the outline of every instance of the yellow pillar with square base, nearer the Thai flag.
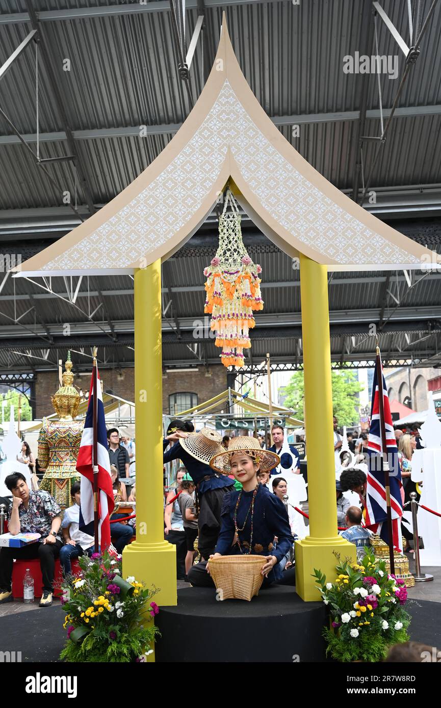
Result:
{"label": "yellow pillar with square base, nearer the Thai flag", "polygon": [[136,541],[123,551],[123,576],[160,588],[157,605],[176,605],[176,548],[164,541],[159,260],[135,270],[134,290]]}

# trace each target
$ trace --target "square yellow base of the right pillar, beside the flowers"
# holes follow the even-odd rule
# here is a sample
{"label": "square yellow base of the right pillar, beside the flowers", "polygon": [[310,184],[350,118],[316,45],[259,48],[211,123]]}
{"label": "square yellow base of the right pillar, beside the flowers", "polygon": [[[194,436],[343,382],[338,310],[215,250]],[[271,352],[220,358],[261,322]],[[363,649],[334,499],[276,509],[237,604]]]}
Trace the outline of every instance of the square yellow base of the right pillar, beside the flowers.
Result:
{"label": "square yellow base of the right pillar, beside the flowers", "polygon": [[335,566],[338,559],[334,555],[339,553],[341,559],[350,559],[357,562],[355,544],[350,543],[341,536],[333,538],[313,539],[309,536],[303,541],[296,541],[296,593],[307,603],[319,602],[320,591],[313,577],[314,569],[321,571],[329,583],[335,581]]}

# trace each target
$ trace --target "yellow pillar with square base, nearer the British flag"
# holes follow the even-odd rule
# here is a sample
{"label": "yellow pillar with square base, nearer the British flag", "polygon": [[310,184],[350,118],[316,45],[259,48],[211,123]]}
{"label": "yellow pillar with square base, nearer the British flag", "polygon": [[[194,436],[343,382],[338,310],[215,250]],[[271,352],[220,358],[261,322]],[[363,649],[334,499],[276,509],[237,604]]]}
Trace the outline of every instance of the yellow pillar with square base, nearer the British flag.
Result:
{"label": "yellow pillar with square base, nearer the British flag", "polygon": [[325,265],[301,254],[300,287],[310,535],[296,541],[296,591],[303,600],[320,600],[311,577],[314,569],[320,569],[333,581],[337,563],[333,552],[353,561],[357,554],[355,545],[337,532],[328,273]]}

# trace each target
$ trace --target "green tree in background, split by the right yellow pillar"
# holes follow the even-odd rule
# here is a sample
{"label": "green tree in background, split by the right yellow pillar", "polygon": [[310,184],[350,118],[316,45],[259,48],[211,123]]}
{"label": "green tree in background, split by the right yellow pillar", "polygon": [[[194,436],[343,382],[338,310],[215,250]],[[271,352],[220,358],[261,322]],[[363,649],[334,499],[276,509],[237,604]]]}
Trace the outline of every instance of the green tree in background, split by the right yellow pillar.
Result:
{"label": "green tree in background, split by the right yellow pillar", "polygon": [[[357,393],[363,390],[355,371],[331,371],[333,386],[333,414],[338,419],[339,426],[352,426],[357,422]],[[286,399],[284,405],[292,408],[298,418],[303,418],[303,399],[305,387],[303,371],[296,371],[285,387]]]}

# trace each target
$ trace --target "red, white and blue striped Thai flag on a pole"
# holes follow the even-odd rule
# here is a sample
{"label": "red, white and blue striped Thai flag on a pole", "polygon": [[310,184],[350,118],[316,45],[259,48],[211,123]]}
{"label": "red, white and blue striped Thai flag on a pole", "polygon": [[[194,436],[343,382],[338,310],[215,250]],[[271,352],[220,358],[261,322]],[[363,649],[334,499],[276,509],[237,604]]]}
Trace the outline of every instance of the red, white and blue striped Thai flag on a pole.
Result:
{"label": "red, white and blue striped Thai flag on a pole", "polygon": [[[98,518],[99,535],[101,537],[101,552],[111,545],[111,532],[109,518],[115,506],[113,502],[113,487],[110,474],[110,459],[108,457],[106,420],[104,418],[104,404],[101,394],[101,381],[98,369],[96,370],[96,388],[98,410],[96,426],[98,430]],[[81,474],[81,506],[79,510],[79,530],[90,536],[94,535],[94,377],[92,374],[89,406],[86,421],[79,446],[77,471]]]}

